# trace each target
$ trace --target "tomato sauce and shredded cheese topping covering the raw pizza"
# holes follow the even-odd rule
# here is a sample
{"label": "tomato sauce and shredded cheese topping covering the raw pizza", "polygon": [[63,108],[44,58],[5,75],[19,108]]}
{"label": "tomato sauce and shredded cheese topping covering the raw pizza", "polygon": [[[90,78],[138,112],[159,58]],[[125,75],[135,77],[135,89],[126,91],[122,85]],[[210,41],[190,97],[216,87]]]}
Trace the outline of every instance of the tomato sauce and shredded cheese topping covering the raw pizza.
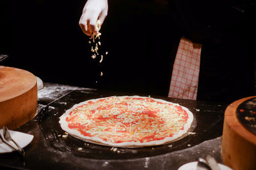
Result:
{"label": "tomato sauce and shredded cheese topping covering the raw pizza", "polygon": [[145,143],[181,131],[188,121],[188,113],[180,106],[150,97],[113,96],[84,103],[72,110],[66,121],[70,128],[82,128],[81,134],[85,132],[110,143]]}

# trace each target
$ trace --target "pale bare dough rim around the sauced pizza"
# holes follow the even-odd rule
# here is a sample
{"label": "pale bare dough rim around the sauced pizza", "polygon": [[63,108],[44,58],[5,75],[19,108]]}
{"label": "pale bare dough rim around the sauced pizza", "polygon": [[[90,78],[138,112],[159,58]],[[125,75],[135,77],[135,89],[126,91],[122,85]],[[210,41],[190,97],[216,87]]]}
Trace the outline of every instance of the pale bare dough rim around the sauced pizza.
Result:
{"label": "pale bare dough rim around the sauced pizza", "polygon": [[[116,97],[116,96],[111,96],[111,97]],[[154,99],[152,97],[140,97],[140,96],[118,96],[118,98],[149,98],[149,99]],[[173,136],[171,137],[166,137],[164,139],[160,139],[160,140],[154,140],[154,141],[146,141],[141,143],[140,141],[128,141],[128,142],[121,142],[121,143],[113,143],[111,141],[105,141],[102,138],[99,138],[97,136],[84,136],[83,134],[81,134],[81,132],[77,131],[76,129],[70,129],[68,127],[68,123],[66,121],[66,118],[69,117],[69,113],[73,110],[75,110],[76,108],[78,108],[79,106],[82,106],[84,104],[88,104],[89,101],[95,103],[97,101],[99,101],[100,99],[106,99],[108,97],[104,97],[104,98],[99,98],[99,99],[91,99],[88,101],[84,101],[82,103],[79,104],[75,104],[72,108],[70,108],[69,110],[67,110],[63,115],[61,115],[60,117],[60,125],[61,128],[68,132],[68,134],[70,134],[71,136],[74,136],[75,138],[81,139],[83,141],[86,142],[90,142],[90,143],[95,143],[98,145],[106,145],[106,146],[115,146],[115,147],[141,147],[141,146],[157,146],[157,145],[164,145],[166,143],[170,143],[173,141],[177,141],[177,139],[182,138],[182,136],[185,136],[187,134],[187,132],[189,131],[189,128],[191,127],[191,124],[193,122],[193,113],[191,113],[191,111],[188,110],[188,108],[185,108],[184,106],[180,106],[177,103],[170,103],[168,101],[164,101],[162,99],[154,99],[154,101],[159,102],[159,103],[164,103],[164,104],[173,104],[173,106],[180,106],[182,108],[182,110],[186,111],[186,113],[188,114],[188,120],[186,122],[186,124],[184,125],[183,129],[180,130],[179,132],[175,132],[173,134]]]}

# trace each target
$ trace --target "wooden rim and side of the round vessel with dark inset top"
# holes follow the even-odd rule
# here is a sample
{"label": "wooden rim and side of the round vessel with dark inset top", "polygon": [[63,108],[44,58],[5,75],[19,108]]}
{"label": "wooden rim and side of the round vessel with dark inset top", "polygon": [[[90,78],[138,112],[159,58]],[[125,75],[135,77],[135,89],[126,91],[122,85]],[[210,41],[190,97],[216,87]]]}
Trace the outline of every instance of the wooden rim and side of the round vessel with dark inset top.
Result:
{"label": "wooden rim and side of the round vessel with dark inset top", "polygon": [[223,162],[234,170],[256,169],[256,135],[248,131],[236,115],[241,103],[255,97],[235,101],[225,110],[221,153]]}

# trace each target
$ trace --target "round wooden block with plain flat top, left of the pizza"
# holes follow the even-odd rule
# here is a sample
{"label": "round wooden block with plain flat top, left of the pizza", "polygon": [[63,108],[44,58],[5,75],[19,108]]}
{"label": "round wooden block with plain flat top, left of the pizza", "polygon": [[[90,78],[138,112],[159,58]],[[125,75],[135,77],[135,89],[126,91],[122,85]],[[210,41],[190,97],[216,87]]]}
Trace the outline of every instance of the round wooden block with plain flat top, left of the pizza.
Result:
{"label": "round wooden block with plain flat top, left of the pizza", "polygon": [[36,76],[14,67],[0,66],[0,129],[16,129],[36,114]]}

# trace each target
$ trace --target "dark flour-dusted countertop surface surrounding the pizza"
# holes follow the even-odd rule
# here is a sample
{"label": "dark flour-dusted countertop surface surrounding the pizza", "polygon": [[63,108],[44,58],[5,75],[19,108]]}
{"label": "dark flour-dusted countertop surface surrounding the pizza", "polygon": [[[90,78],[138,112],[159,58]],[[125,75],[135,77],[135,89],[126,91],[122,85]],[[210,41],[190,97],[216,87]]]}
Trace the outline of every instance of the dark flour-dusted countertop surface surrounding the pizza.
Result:
{"label": "dark flour-dusted countertop surface surrounding the pizza", "polygon": [[[205,101],[172,99],[151,96],[189,108],[195,117],[190,134],[179,141],[162,146],[145,148],[117,148],[94,145],[68,136],[58,123],[59,117],[74,104],[108,96],[129,96],[124,92],[104,91],[45,83],[38,91],[38,113],[33,120],[19,129],[33,134],[33,141],[26,146],[26,157],[17,153],[0,155],[0,167],[10,166],[24,169],[178,169],[183,164],[199,157],[212,155],[221,159],[221,134],[224,111],[227,104]],[[135,94],[139,95],[140,94]],[[150,95],[150,94],[148,94]],[[79,151],[77,148],[83,148]]]}

